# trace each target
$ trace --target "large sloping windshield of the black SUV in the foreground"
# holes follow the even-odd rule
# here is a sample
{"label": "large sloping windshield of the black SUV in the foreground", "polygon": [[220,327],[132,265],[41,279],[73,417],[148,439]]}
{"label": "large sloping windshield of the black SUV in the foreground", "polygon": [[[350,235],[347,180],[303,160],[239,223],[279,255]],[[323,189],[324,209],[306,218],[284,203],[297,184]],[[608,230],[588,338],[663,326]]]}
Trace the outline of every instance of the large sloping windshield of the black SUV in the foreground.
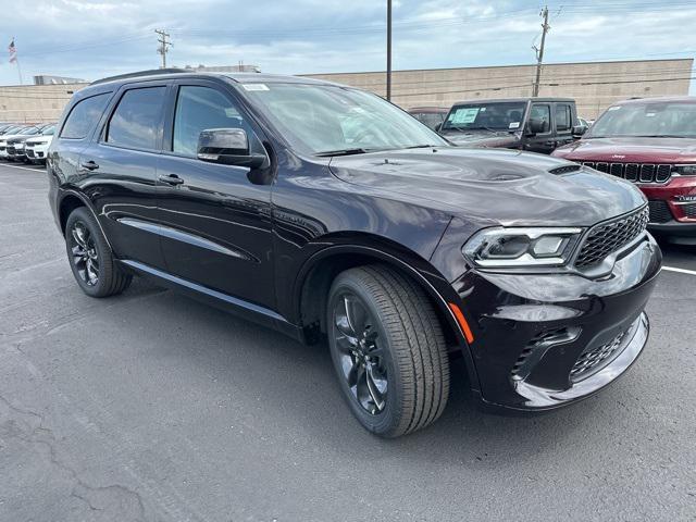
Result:
{"label": "large sloping windshield of the black SUV in the foreground", "polygon": [[241,84],[290,145],[311,154],[359,153],[447,142],[382,98],[357,89],[308,84]]}

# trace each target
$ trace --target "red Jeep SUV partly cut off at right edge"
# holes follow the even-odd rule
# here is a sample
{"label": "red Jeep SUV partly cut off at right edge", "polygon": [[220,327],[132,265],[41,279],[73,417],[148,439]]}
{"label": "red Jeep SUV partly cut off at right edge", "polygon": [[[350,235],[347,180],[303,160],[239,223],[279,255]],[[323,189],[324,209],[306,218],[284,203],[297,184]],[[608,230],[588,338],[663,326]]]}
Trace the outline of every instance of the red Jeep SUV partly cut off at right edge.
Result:
{"label": "red Jeep SUV partly cut off at right edge", "polygon": [[621,101],[554,156],[623,177],[648,198],[650,232],[696,245],[696,98]]}

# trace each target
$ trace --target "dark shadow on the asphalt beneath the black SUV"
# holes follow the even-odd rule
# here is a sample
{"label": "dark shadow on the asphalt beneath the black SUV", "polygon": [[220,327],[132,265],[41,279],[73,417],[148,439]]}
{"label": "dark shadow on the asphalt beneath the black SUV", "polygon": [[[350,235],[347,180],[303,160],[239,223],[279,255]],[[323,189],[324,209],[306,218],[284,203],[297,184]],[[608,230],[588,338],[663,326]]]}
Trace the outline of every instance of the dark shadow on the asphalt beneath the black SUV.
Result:
{"label": "dark shadow on the asphalt beneath the black SUV", "polygon": [[[148,300],[150,319],[166,313],[176,328],[163,328],[153,357],[185,358],[191,371],[200,364],[215,372],[225,393],[257,407],[253,430],[275,437],[282,424],[288,437],[321,444],[361,459],[401,458],[459,462],[473,468],[510,467],[554,450],[583,430],[598,409],[614,407],[605,396],[544,414],[512,417],[481,411],[469,391],[461,360],[451,364],[452,385],[443,417],[414,434],[385,440],[366,433],[351,417],[335,382],[325,343],[303,346],[284,335],[165,291]],[[214,369],[214,370],[213,370]],[[172,383],[174,386],[175,383]],[[621,384],[617,384],[621,386]],[[610,393],[607,390],[607,393]],[[235,410],[227,410],[234,422]],[[596,421],[594,421],[596,422]],[[446,448],[446,449],[444,449]]]}

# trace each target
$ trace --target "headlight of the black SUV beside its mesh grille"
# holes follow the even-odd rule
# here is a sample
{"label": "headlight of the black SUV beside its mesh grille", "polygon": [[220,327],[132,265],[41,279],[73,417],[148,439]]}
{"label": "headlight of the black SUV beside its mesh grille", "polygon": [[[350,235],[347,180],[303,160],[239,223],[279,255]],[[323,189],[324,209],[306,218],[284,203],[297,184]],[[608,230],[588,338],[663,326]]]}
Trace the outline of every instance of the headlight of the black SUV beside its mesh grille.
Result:
{"label": "headlight of the black SUV beside its mesh grille", "polygon": [[462,251],[476,266],[560,266],[568,262],[582,228],[486,228]]}

